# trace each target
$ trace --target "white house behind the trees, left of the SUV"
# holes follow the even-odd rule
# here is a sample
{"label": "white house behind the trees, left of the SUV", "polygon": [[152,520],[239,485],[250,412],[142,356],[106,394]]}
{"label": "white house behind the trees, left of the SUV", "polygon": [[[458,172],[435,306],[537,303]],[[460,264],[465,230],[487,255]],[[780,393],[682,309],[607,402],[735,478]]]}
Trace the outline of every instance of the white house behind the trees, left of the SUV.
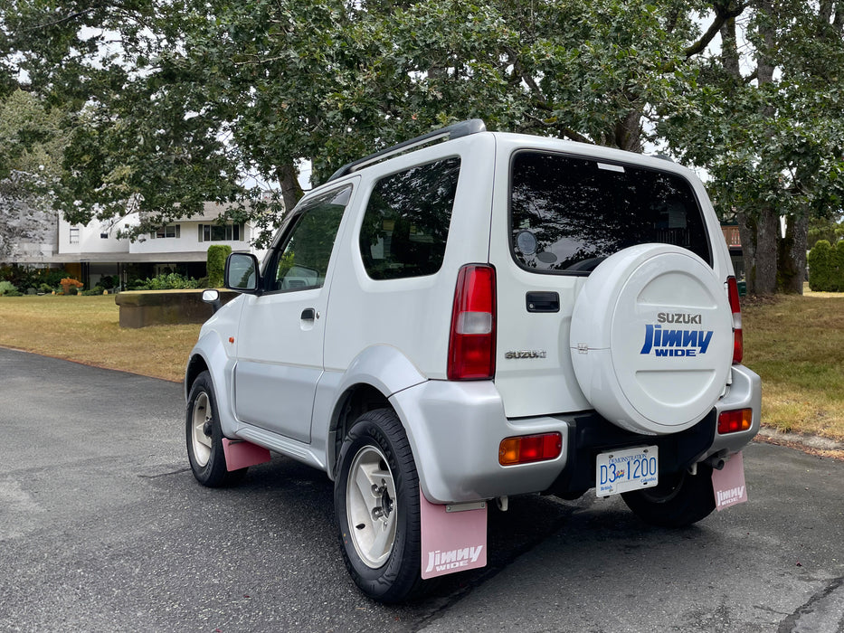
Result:
{"label": "white house behind the trees, left of the SUV", "polygon": [[50,243],[27,245],[7,263],[63,267],[85,288],[93,288],[102,277],[113,275],[119,276],[121,285],[129,279],[146,279],[163,272],[199,279],[206,275],[207,250],[212,244],[227,244],[232,251],[262,255],[250,247],[256,237],[256,229],[250,224],[215,222],[224,210],[221,204],[205,203],[201,215],[167,224],[134,242],[118,238],[118,233],[137,225],[138,213],[130,213],[118,222],[94,220],[86,226],[59,218]]}

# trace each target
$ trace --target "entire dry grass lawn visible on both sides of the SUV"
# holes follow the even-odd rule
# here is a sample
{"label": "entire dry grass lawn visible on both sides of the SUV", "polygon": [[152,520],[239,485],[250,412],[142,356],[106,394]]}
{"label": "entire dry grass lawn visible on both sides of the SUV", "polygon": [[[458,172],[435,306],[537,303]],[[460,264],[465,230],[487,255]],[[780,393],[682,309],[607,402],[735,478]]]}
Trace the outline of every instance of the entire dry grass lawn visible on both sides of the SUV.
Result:
{"label": "entire dry grass lawn visible on both sides of the SUV", "polygon": [[[0,345],[182,380],[199,326],[118,323],[111,295],[0,297]],[[763,424],[844,441],[844,295],[748,302],[743,325],[744,364],[762,376]]]}

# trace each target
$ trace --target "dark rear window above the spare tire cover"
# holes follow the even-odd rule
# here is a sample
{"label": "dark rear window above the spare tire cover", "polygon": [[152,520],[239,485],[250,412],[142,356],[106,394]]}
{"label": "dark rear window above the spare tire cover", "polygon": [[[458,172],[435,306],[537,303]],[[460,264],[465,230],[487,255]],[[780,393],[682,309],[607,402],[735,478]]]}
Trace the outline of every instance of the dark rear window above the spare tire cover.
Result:
{"label": "dark rear window above the spare tire cover", "polygon": [[526,269],[588,274],[619,250],[674,244],[712,263],[697,198],[682,176],[578,156],[513,157],[511,248]]}

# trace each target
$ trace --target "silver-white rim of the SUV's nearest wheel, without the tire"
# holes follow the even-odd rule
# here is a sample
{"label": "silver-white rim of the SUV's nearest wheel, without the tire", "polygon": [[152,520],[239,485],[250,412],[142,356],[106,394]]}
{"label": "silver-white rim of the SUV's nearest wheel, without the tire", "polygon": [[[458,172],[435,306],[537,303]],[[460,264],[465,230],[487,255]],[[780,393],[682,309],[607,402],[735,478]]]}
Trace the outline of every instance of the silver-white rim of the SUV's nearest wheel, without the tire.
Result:
{"label": "silver-white rim of the SUV's nearest wheel, without the tire", "polygon": [[368,567],[381,567],[393,551],[398,506],[393,472],[374,446],[360,449],[349,468],[346,514],[357,555]]}

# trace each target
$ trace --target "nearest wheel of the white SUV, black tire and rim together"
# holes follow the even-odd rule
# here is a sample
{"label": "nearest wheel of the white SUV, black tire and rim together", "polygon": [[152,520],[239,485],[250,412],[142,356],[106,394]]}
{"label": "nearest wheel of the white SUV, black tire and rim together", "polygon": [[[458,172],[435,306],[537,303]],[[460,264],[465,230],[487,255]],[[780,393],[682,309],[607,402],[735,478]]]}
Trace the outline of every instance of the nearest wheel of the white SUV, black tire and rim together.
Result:
{"label": "nearest wheel of the white SUV, black tire and rim together", "polygon": [[381,602],[420,595],[419,477],[394,411],[369,411],[348,431],[334,505],[340,550],[360,590]]}

